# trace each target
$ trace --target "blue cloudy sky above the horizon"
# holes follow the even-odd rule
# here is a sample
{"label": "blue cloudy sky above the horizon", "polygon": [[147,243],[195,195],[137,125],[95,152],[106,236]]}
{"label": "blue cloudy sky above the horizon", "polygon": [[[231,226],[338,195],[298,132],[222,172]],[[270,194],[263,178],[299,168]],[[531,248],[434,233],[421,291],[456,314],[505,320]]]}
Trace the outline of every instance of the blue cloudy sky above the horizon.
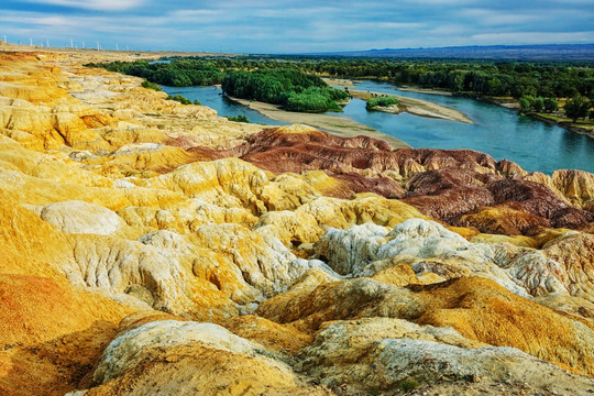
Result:
{"label": "blue cloudy sky above the horizon", "polygon": [[0,40],[300,53],[594,43],[593,0],[2,0]]}

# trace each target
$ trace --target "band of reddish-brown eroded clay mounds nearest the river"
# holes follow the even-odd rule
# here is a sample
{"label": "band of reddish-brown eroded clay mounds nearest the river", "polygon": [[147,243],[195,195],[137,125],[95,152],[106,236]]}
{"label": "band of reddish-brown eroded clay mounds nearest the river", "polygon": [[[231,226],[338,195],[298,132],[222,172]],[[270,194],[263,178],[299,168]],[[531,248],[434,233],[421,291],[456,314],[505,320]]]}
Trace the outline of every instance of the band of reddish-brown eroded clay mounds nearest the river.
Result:
{"label": "band of reddish-brown eroded clay mounds nearest the river", "polygon": [[[239,157],[276,174],[323,170],[339,182],[324,188],[324,195],[374,193],[403,199],[426,216],[485,233],[531,235],[542,228],[581,229],[594,221],[571,207],[549,176],[528,174],[513,162],[496,163],[472,150],[393,151],[371,138],[345,139],[297,127],[267,129],[245,141],[229,150],[190,152],[205,158]],[[590,174],[563,175],[558,174],[558,184],[571,177],[587,184]],[[573,197],[572,188],[562,189]],[[579,195],[574,200],[590,205],[585,187]]]}

